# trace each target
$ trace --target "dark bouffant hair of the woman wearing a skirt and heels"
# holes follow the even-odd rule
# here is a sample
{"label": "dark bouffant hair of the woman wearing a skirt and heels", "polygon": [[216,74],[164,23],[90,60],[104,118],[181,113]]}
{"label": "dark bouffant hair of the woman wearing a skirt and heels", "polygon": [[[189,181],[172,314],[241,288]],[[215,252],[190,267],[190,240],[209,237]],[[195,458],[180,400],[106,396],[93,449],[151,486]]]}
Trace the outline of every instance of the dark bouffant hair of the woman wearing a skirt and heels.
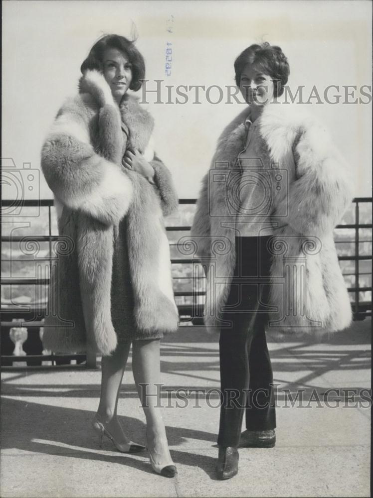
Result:
{"label": "dark bouffant hair of the woman wearing a skirt and heels", "polygon": [[128,40],[124,36],[117,34],[107,34],[100,38],[89,51],[88,57],[80,66],[80,71],[84,74],[87,69],[96,69],[102,71],[102,56],[107,48],[117,48],[124,52],[129,62],[132,64],[132,81],[130,90],[140,90],[142,81],[145,78],[145,61],[144,57],[135,47],[133,41]]}

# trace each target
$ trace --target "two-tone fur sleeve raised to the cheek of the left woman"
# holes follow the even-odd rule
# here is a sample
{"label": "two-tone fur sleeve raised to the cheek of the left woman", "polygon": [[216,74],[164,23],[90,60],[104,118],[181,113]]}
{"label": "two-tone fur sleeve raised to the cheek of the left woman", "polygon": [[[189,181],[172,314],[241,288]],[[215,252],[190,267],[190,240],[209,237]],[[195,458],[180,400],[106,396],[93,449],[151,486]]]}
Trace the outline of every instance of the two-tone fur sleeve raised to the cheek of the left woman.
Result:
{"label": "two-tone fur sleeve raised to the cheek of the left woman", "polygon": [[128,210],[133,187],[120,166],[123,137],[119,110],[110,89],[103,91],[105,86],[97,85],[95,78],[103,77],[90,74],[85,82],[96,92],[97,141],[102,147],[95,150],[91,143],[90,120],[96,114],[90,114],[92,98],[79,95],[67,100],[58,112],[42,147],[41,167],[57,201],[105,225],[115,225]]}

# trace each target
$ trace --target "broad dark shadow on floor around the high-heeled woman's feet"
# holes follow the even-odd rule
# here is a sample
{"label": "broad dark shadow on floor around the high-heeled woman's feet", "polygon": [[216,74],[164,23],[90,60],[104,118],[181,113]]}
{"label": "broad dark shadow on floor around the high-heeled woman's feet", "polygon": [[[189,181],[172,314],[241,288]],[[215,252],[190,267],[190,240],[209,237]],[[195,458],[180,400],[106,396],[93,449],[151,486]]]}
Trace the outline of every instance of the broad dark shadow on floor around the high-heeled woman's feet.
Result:
{"label": "broad dark shadow on floor around the high-heeled woman's feet", "polygon": [[[100,448],[98,436],[91,428],[92,416],[93,413],[88,410],[3,398],[2,450],[14,449],[94,461],[102,460],[107,463],[120,463],[144,472],[153,472],[148,460],[138,458],[148,457],[146,451],[136,455],[119,452],[113,455],[115,448],[109,440],[106,440]],[[121,416],[120,420],[132,440],[146,445],[146,427],[140,420],[126,416]],[[175,446],[183,445],[188,438],[199,439],[205,441],[207,446],[212,446],[216,441],[216,435],[182,427],[167,427],[166,430],[175,464],[198,467],[213,478],[214,458],[178,451]]]}

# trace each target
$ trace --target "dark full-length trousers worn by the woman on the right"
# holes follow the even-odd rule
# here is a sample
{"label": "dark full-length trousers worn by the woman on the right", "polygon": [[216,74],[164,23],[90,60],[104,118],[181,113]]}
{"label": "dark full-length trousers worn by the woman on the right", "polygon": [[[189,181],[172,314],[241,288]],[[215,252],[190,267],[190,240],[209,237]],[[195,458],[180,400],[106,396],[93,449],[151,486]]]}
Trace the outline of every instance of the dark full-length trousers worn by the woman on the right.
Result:
{"label": "dark full-length trousers worn by the woman on the right", "polygon": [[[220,329],[221,407],[218,444],[237,447],[246,429],[276,427],[273,373],[265,337],[270,237],[236,237],[236,264]],[[260,283],[262,282],[262,283]]]}

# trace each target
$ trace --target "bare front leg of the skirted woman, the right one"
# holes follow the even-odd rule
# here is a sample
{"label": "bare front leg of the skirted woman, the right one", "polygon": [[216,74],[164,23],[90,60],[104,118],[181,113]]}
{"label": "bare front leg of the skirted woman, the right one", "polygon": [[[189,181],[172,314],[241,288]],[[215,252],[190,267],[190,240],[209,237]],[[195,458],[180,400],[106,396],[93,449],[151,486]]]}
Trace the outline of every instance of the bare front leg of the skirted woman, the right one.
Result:
{"label": "bare front leg of the skirted woman, the right one", "polygon": [[133,342],[132,371],[147,421],[148,449],[156,464],[170,465],[172,459],[162,419],[160,361],[159,339]]}

